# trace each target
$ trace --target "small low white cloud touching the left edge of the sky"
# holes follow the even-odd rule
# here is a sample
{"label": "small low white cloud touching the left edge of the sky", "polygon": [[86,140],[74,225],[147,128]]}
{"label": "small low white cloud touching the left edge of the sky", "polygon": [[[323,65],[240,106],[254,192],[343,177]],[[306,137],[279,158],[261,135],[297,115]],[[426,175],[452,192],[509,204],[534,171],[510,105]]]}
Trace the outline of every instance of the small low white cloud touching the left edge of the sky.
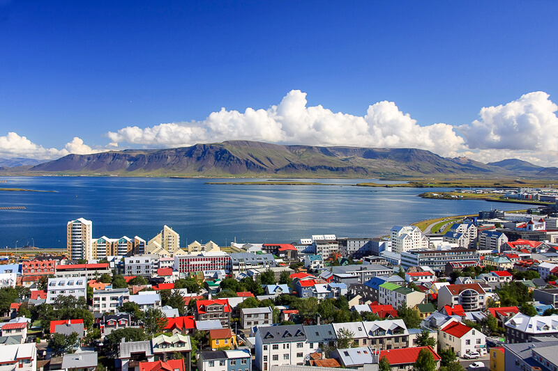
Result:
{"label": "small low white cloud touching the left edge of the sky", "polygon": [[15,132],[9,132],[6,136],[0,136],[0,156],[2,157],[26,157],[33,159],[57,159],[74,153],[76,155],[87,155],[89,153],[103,152],[101,149],[93,149],[83,143],[77,136],[63,149],[45,148],[42,145],[31,142],[27,137],[20,136]]}

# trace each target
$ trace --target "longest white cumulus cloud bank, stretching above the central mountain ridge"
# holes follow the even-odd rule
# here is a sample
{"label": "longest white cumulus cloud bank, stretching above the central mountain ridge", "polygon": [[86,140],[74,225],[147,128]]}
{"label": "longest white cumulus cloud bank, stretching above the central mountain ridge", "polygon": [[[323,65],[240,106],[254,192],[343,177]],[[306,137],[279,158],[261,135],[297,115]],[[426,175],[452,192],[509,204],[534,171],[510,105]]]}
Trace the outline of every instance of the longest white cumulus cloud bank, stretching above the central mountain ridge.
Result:
{"label": "longest white cumulus cloud bank, stretching above the central mountain ridge", "polygon": [[462,148],[464,140],[451,125],[420,126],[393,102],[368,107],[365,116],[334,113],[321,105],[307,106],[306,93],[291,90],[269,109],[213,112],[202,121],[124,127],[108,132],[112,143],[192,145],[208,141],[248,139],[273,143],[422,148],[445,154]]}

